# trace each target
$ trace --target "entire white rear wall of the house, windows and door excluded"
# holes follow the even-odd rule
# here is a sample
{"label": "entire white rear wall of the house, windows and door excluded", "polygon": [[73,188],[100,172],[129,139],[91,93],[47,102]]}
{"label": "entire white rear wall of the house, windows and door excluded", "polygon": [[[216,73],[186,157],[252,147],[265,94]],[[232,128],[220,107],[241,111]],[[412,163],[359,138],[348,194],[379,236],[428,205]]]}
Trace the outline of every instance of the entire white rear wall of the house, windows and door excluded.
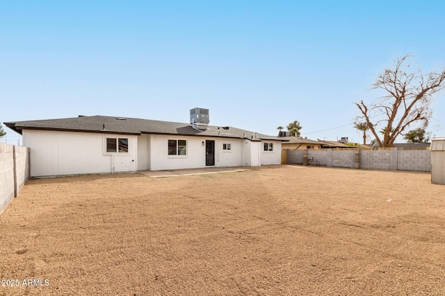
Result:
{"label": "entire white rear wall of the house, windows and door excluded", "polygon": [[[23,130],[23,136],[24,145],[31,148],[31,177],[204,168],[206,140],[215,141],[215,166],[281,163],[280,141],[49,130]],[[129,152],[106,153],[106,138],[127,138]],[[186,155],[168,155],[169,139],[186,140]],[[264,151],[264,142],[273,143],[273,151]],[[230,144],[231,149],[224,150],[223,144]]]}

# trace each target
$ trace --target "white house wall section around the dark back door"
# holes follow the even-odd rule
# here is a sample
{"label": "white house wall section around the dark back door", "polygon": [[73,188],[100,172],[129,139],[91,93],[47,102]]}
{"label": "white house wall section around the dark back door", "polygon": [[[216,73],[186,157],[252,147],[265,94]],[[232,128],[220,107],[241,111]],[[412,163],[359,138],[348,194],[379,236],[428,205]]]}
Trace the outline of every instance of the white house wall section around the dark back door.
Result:
{"label": "white house wall section around the dark back door", "polygon": [[[186,140],[187,155],[168,155],[168,140]],[[206,167],[205,141],[215,141],[215,166],[242,166],[243,140],[214,137],[184,137],[180,135],[150,135],[150,169]],[[230,151],[223,150],[223,143],[230,143]]]}

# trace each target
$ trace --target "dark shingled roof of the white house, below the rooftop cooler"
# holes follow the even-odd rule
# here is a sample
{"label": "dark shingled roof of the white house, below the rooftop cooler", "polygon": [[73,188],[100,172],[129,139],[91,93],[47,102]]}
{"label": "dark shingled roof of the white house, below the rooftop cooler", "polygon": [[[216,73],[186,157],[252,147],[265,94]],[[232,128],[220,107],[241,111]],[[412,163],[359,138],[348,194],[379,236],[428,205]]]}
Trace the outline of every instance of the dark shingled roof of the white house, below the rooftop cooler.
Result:
{"label": "dark shingled roof of the white house, below the rooftop cooler", "polygon": [[148,119],[133,119],[113,116],[79,116],[67,119],[47,119],[35,121],[8,122],[5,125],[22,134],[22,130],[58,130],[67,132],[98,132],[113,134],[177,134],[184,136],[205,136],[242,138],[252,141],[277,140],[279,137],[250,132],[232,127],[209,125],[207,130],[197,130],[190,123],[170,121],[154,121]]}

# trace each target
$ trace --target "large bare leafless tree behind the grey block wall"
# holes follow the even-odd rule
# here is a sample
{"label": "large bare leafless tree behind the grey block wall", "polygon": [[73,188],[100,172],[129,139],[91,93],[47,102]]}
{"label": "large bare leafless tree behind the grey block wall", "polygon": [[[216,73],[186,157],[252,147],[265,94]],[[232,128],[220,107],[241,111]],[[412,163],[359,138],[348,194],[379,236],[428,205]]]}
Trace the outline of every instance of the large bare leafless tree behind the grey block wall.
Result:
{"label": "large bare leafless tree behind the grey block wall", "polygon": [[[365,104],[355,103],[362,112],[358,119],[365,121],[380,147],[391,147],[403,130],[413,123],[428,125],[432,110],[432,94],[445,88],[445,69],[423,76],[421,71],[407,71],[410,68],[405,55],[395,62],[395,69],[385,69],[380,73],[372,89],[382,89],[385,96],[378,101]],[[383,139],[378,134],[378,125],[383,124]],[[382,130],[383,130],[382,129]]]}

